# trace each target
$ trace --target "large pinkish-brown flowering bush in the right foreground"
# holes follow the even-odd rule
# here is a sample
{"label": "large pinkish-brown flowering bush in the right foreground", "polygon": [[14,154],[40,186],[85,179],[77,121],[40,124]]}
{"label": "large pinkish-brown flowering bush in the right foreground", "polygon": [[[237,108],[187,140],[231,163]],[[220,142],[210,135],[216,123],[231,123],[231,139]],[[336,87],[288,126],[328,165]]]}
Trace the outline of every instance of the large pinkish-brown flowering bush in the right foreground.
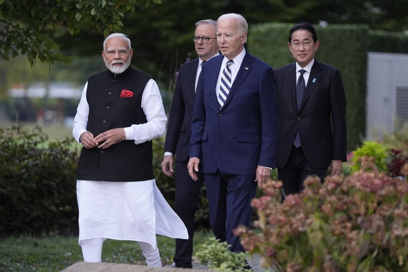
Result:
{"label": "large pinkish-brown flowering bush in the right foreground", "polygon": [[[370,169],[370,171],[366,171]],[[264,267],[285,271],[408,270],[408,183],[379,173],[362,158],[350,176],[309,177],[305,189],[281,203],[282,182],[262,185],[253,199],[256,234],[234,232],[244,248],[261,255]]]}

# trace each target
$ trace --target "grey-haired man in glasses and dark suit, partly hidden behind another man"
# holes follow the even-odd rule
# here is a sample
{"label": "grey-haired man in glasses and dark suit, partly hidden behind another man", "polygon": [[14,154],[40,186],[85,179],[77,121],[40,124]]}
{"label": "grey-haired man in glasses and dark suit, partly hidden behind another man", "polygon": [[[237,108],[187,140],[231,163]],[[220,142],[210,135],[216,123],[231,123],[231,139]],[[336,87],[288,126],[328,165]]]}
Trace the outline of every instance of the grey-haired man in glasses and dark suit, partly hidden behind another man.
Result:
{"label": "grey-haired man in glasses and dark suit, partly hidden behind another man", "polygon": [[195,89],[201,65],[219,55],[217,46],[217,22],[211,19],[195,23],[193,37],[198,58],[183,64],[174,89],[173,101],[164,144],[162,170],[173,176],[173,155],[175,154],[175,212],[188,230],[188,240],[175,239],[174,264],[176,267],[192,268],[195,206],[203,183],[202,174],[193,181],[187,170],[190,151],[191,118],[195,101]]}

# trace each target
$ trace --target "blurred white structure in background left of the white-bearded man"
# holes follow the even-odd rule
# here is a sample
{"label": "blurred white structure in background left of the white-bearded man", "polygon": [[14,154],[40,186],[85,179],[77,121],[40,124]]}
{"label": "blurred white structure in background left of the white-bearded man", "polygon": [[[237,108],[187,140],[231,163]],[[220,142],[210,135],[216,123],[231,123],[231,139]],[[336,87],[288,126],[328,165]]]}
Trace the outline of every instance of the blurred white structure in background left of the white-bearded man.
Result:
{"label": "blurred white structure in background left of the white-bearded man", "polygon": [[81,99],[82,89],[74,87],[73,84],[69,82],[50,82],[48,88],[46,88],[45,82],[38,82],[31,85],[28,89],[23,86],[16,84],[10,89],[10,96],[14,98],[18,97],[45,97],[47,95],[49,98],[77,98]]}

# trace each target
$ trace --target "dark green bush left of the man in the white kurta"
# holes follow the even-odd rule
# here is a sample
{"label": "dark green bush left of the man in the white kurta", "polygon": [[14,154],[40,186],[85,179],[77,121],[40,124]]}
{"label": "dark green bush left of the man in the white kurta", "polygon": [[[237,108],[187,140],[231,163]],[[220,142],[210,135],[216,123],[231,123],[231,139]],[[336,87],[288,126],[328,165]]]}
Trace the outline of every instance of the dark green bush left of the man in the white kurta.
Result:
{"label": "dark green bush left of the man in the white kurta", "polygon": [[72,146],[40,127],[0,129],[0,235],[78,231]]}

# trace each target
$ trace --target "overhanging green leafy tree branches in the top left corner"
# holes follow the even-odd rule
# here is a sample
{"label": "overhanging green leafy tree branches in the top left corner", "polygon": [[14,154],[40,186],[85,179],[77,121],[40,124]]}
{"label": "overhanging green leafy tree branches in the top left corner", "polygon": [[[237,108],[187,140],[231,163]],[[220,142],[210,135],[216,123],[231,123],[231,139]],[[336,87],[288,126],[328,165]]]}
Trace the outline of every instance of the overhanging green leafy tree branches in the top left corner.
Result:
{"label": "overhanging green leafy tree branches in the top left corner", "polygon": [[123,27],[122,18],[136,6],[161,0],[0,0],[0,56],[26,54],[31,65],[41,62],[69,62],[47,32],[65,30],[71,35],[90,27],[107,36]]}

